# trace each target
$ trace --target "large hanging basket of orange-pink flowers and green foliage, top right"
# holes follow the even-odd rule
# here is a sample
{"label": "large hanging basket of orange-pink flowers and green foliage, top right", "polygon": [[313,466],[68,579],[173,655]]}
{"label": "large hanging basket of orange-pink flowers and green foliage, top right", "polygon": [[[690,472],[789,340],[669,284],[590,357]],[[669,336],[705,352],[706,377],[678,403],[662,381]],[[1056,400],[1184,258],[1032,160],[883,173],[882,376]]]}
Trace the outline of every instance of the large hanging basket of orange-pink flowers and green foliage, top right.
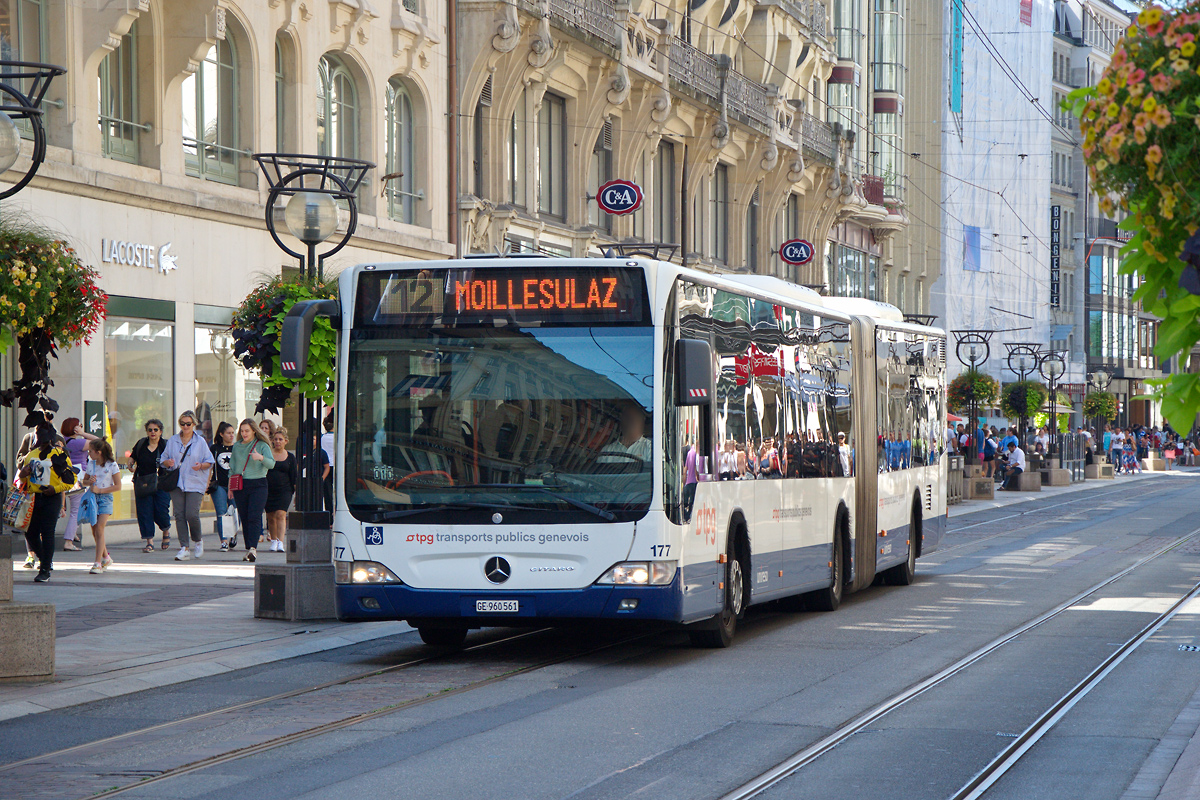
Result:
{"label": "large hanging basket of orange-pink flowers and green foliage, top right", "polygon": [[[1200,219],[1200,0],[1178,11],[1147,7],[1117,42],[1112,62],[1096,86],[1068,95],[1080,120],[1084,157],[1100,207],[1129,212],[1134,233],[1121,248],[1121,271],[1136,275],[1134,300],[1163,321],[1154,355],[1189,353],[1200,341],[1200,296],[1180,287],[1183,243]],[[1177,429],[1200,411],[1200,375],[1172,374],[1147,381],[1163,416]]]}

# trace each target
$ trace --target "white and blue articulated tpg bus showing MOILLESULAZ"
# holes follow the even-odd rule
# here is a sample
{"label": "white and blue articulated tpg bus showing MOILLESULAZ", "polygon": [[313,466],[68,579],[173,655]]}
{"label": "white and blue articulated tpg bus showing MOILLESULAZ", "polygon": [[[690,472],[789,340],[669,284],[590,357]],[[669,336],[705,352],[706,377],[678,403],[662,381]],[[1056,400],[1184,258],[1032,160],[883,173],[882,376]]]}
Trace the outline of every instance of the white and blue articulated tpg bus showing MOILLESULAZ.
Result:
{"label": "white and blue articulated tpg bus showing MOILLESULAZ", "polygon": [[749,606],[833,610],[942,537],[946,336],[892,306],[636,257],[340,281],[342,620],[440,645],[659,621],[726,646]]}

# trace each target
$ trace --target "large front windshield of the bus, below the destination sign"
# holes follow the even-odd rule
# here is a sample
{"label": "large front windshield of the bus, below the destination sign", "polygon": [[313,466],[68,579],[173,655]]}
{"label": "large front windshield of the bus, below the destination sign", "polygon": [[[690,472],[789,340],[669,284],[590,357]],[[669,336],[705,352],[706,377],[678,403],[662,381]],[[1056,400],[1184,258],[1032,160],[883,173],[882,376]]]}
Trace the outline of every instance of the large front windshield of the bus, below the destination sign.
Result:
{"label": "large front windshield of the bus, below the destination sign", "polygon": [[364,522],[628,522],[652,487],[654,329],[352,333],[346,497]]}

